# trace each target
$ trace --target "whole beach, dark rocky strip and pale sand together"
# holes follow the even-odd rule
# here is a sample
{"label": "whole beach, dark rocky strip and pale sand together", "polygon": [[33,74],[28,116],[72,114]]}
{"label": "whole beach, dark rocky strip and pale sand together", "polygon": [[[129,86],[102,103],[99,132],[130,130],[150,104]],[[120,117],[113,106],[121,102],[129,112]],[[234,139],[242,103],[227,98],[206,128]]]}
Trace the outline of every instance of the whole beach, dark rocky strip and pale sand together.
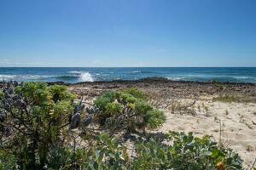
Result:
{"label": "whole beach, dark rocky strip and pale sand together", "polygon": [[256,158],[255,84],[173,82],[155,78],[67,85],[70,91],[89,102],[108,90],[139,88],[167,116],[164,125],[155,132],[211,135],[219,144],[236,150],[246,168]]}

